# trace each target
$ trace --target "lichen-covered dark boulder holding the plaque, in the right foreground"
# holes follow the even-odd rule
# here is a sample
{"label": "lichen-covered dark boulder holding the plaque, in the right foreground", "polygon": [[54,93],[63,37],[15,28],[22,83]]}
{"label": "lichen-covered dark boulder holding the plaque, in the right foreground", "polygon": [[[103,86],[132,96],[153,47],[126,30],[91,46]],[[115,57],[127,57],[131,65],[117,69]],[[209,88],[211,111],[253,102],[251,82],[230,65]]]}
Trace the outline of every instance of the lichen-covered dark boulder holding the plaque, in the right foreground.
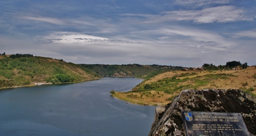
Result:
{"label": "lichen-covered dark boulder holding the plaque, in the right foreground", "polygon": [[238,89],[183,90],[173,102],[157,107],[149,136],[186,136],[181,111],[241,113],[256,135],[256,98]]}

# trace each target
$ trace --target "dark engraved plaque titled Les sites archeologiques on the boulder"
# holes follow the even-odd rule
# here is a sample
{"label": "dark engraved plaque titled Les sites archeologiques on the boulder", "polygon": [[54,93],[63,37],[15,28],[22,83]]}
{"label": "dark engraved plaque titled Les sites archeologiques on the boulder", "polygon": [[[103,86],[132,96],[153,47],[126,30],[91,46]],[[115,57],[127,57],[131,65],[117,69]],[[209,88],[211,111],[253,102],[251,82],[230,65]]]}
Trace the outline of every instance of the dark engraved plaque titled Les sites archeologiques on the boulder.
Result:
{"label": "dark engraved plaque titled Les sites archeologiques on the boulder", "polygon": [[250,136],[241,113],[181,111],[187,136]]}

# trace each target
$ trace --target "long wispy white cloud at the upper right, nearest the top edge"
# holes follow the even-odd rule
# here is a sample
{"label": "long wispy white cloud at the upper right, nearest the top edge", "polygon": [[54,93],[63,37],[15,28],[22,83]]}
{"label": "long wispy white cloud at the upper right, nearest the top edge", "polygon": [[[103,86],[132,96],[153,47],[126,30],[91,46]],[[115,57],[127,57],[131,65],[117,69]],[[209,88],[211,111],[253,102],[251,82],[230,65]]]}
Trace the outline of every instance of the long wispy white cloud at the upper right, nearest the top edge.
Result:
{"label": "long wispy white cloud at the upper right, nearest the top edge", "polygon": [[252,16],[241,8],[234,6],[218,6],[201,10],[180,10],[161,12],[160,15],[149,14],[122,14],[126,16],[142,16],[148,18],[147,23],[166,21],[193,21],[195,23],[226,23],[235,21],[252,21]]}

